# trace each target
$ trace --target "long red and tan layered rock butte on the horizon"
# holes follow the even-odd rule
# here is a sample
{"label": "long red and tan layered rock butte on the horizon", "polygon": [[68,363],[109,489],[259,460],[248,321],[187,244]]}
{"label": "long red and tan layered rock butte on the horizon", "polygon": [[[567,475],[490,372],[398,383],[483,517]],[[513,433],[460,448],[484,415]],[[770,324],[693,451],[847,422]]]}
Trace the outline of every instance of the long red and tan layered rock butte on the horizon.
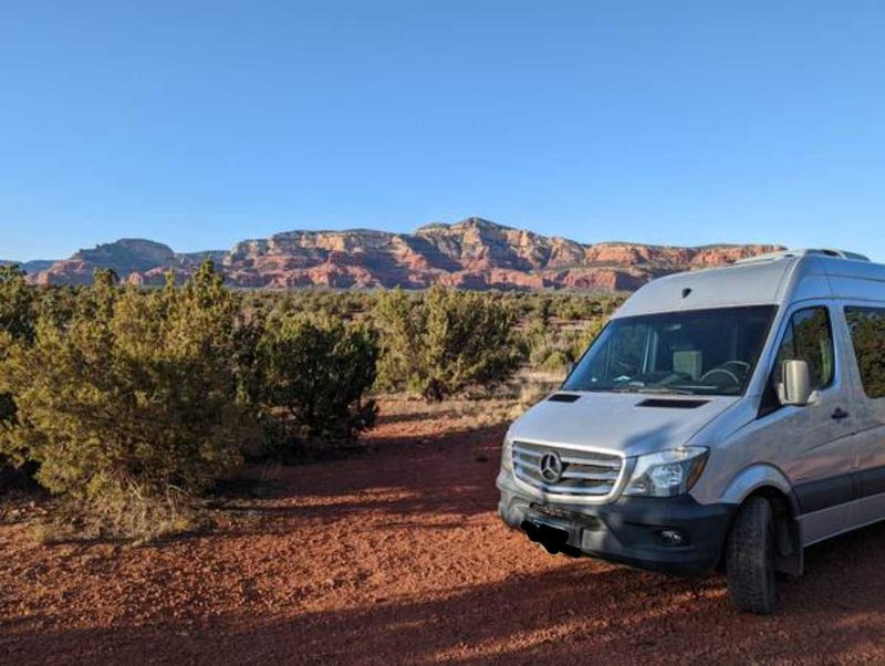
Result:
{"label": "long red and tan layered rock butte on the horizon", "polygon": [[479,290],[632,291],[660,275],[721,266],[777,249],[781,248],[582,244],[468,218],[455,225],[427,225],[414,233],[288,231],[244,240],[228,252],[181,254],[163,243],[123,239],[81,250],[32,280],[39,284],[86,284],[101,267],[114,269],[132,284],[158,285],[168,271],[184,280],[210,256],[227,283],[238,288],[423,289],[444,284]]}

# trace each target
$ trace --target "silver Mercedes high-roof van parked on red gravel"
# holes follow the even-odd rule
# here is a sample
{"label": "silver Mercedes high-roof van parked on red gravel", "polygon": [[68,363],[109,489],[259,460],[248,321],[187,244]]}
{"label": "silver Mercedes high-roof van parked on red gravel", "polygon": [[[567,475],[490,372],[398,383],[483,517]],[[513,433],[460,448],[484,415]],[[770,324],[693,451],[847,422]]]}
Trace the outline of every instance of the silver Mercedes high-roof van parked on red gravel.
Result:
{"label": "silver Mercedes high-roof van parked on red gravel", "polygon": [[885,519],[885,266],[785,251],[643,287],[510,427],[497,485],[551,553],[722,568],[771,613],[806,545]]}

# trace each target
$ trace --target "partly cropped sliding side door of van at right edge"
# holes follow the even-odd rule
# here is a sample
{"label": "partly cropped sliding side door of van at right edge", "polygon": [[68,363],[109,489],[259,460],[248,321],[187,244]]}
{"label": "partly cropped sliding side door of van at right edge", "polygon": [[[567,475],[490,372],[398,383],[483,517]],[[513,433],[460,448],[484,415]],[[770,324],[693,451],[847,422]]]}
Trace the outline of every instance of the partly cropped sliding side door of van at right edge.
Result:
{"label": "partly cropped sliding side door of van at right edge", "polygon": [[850,517],[857,528],[885,519],[885,305],[846,302],[843,312],[857,387],[857,502]]}

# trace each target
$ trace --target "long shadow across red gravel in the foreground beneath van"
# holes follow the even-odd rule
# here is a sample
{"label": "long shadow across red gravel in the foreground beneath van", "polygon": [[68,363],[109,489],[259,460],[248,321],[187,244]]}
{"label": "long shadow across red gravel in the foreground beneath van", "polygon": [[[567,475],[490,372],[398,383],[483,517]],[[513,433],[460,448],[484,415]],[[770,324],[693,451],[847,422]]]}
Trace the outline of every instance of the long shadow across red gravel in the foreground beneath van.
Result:
{"label": "long shadow across red gravel in the foreground beneath van", "polygon": [[873,528],[809,552],[774,617],[730,610],[719,577],[676,581],[562,561],[533,575],[285,617],[70,632],[0,624],[4,663],[723,663],[863,660],[882,638]]}

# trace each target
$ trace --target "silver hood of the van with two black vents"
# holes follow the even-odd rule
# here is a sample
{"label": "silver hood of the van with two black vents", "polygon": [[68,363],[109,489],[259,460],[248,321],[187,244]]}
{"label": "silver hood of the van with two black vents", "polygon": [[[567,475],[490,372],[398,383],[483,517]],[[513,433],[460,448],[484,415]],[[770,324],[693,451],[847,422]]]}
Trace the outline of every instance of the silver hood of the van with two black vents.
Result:
{"label": "silver hood of the van with two black vents", "polygon": [[705,425],[739,399],[732,396],[560,392],[517,419],[508,437],[638,456],[689,444]]}

